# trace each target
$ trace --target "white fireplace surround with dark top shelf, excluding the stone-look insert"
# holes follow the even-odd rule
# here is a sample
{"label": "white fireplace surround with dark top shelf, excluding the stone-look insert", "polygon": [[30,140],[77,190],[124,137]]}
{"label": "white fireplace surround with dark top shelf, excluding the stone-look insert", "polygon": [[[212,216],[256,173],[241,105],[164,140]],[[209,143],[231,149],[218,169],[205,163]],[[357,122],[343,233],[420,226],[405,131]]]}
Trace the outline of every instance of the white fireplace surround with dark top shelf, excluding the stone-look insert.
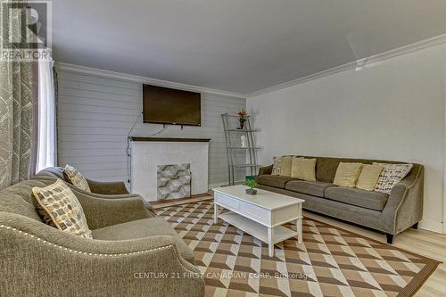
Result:
{"label": "white fireplace surround with dark top shelf, excluding the stone-look insert", "polygon": [[192,194],[208,192],[209,141],[202,138],[140,137],[131,139],[131,192],[157,199],[158,165],[191,164]]}

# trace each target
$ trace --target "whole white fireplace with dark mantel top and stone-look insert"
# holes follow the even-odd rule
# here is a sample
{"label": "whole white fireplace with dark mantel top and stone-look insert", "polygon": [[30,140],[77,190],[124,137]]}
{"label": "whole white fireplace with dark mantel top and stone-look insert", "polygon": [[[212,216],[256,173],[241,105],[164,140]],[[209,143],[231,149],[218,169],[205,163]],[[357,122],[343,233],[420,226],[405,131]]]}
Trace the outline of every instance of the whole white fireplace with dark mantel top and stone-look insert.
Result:
{"label": "whole white fireplace with dark mantel top and stone-look insert", "polygon": [[131,140],[132,193],[156,201],[208,192],[210,139],[133,136]]}

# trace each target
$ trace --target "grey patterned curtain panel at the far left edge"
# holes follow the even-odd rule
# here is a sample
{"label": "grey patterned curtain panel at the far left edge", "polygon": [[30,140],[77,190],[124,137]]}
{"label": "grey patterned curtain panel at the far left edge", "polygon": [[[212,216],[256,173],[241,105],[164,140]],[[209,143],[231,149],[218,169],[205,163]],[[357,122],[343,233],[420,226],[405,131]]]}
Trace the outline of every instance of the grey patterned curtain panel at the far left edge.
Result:
{"label": "grey patterned curtain panel at the far left edge", "polygon": [[[2,13],[0,42],[21,36],[21,12]],[[0,59],[0,189],[29,177],[34,138],[33,66],[33,62]]]}

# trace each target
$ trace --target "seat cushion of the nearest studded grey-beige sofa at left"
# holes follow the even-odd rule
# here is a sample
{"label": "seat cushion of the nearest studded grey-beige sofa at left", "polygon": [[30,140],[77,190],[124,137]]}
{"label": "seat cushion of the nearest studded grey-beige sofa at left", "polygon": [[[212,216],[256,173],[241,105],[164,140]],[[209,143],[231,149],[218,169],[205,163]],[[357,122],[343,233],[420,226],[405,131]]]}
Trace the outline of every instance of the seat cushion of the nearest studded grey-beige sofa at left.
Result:
{"label": "seat cushion of the nearest studded grey-beige sofa at left", "polygon": [[170,235],[177,244],[178,253],[184,260],[194,264],[194,252],[178,236],[170,224],[162,218],[138,219],[127,223],[93,230],[97,240],[130,240],[156,235]]}

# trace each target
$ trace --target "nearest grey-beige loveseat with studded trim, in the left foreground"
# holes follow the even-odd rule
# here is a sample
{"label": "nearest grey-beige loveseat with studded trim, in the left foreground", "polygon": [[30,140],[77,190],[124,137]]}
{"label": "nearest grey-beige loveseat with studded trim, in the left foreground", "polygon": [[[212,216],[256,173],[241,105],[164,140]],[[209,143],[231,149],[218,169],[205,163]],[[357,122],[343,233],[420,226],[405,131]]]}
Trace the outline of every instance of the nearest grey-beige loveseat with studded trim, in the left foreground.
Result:
{"label": "nearest grey-beige loveseat with studded trim, in the left foreground", "polygon": [[32,203],[37,177],[0,191],[0,288],[4,296],[202,296],[194,252],[140,196],[77,191],[93,239],[46,225]]}

